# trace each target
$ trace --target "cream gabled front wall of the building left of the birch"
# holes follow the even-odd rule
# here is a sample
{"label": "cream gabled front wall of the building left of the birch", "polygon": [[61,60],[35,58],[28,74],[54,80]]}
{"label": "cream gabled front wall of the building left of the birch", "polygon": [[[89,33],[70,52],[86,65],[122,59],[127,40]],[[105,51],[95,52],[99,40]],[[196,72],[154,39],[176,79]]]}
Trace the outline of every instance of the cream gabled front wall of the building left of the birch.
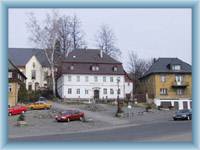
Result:
{"label": "cream gabled front wall of the building left of the birch", "polygon": [[40,87],[47,86],[47,80],[45,79],[45,76],[50,74],[50,69],[47,67],[43,67],[34,55],[26,63],[25,68],[20,70],[27,77],[27,89],[37,90]]}

